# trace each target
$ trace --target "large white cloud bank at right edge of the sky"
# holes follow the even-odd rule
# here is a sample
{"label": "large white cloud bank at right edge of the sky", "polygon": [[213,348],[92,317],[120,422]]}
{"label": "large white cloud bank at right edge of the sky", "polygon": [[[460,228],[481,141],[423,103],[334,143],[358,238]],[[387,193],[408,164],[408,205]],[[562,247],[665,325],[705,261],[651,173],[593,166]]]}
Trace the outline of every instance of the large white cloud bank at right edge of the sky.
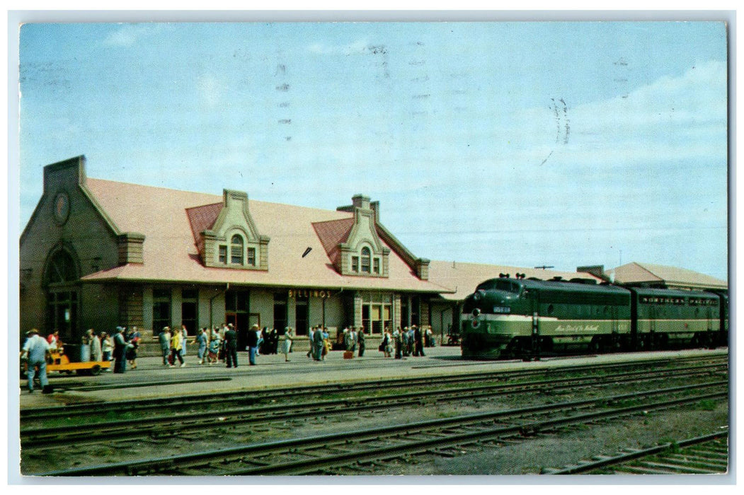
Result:
{"label": "large white cloud bank at right edge of the sky", "polygon": [[[561,158],[573,164],[725,158],[726,66],[692,68],[632,91],[571,106],[558,115],[547,106],[515,114],[496,132],[509,143],[508,161],[540,163]],[[568,138],[566,138],[568,127]]]}

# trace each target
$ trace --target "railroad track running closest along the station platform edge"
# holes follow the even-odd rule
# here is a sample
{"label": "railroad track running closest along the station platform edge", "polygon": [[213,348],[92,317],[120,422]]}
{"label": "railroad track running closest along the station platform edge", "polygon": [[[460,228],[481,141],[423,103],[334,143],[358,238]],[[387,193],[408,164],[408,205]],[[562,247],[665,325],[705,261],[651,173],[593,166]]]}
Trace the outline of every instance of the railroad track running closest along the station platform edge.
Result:
{"label": "railroad track running closest along the station platform edge", "polygon": [[[281,389],[254,389],[240,392],[221,392],[205,395],[177,395],[168,398],[137,399],[131,401],[90,401],[85,404],[68,404],[65,406],[36,407],[33,410],[21,410],[22,424],[29,418],[53,419],[65,418],[70,420],[75,417],[84,417],[86,421],[91,418],[107,414],[118,414],[126,412],[144,412],[148,410],[178,411],[193,410],[196,407],[210,409],[217,406],[224,408],[227,404],[251,405],[260,404],[262,401],[272,400],[294,400],[307,396],[327,396],[338,393],[362,392],[368,390],[379,390],[385,388],[407,387],[413,389],[421,386],[432,386],[432,384],[465,384],[483,381],[517,381],[531,377],[551,377],[555,375],[566,375],[568,373],[601,374],[612,370],[649,369],[653,366],[665,366],[679,364],[676,369],[690,369],[693,363],[718,363],[719,366],[728,365],[728,356],[716,357],[685,357],[685,358],[663,358],[658,360],[645,360],[640,363],[609,363],[609,364],[587,364],[580,366],[561,366],[551,369],[529,369],[508,372],[478,372],[467,375],[439,375],[425,378],[399,378],[388,380],[349,382],[326,385],[283,387]],[[107,385],[108,386],[108,385]],[[138,386],[147,386],[139,384]]]}

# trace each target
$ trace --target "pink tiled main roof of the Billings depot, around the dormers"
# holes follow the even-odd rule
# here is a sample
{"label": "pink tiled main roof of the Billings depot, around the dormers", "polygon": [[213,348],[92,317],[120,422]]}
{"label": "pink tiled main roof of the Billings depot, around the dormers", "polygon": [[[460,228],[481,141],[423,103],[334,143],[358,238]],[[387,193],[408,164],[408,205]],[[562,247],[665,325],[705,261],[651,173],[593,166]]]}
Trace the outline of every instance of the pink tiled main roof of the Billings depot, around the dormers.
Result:
{"label": "pink tiled main roof of the Billings depot, around the dormers", "polygon": [[[137,232],[145,236],[143,264],[129,263],[99,271],[83,277],[86,281],[173,281],[422,292],[449,290],[418,279],[393,249],[389,256],[388,278],[339,274],[330,262],[314,224],[353,221],[353,213],[249,200],[248,209],[259,233],[271,239],[269,270],[207,268],[199,262],[193,228],[201,228],[208,222],[214,212],[211,207],[222,204],[222,195],[94,178],[88,178],[86,185],[121,232]],[[187,210],[192,214],[187,214]],[[303,257],[307,247],[312,249]]]}

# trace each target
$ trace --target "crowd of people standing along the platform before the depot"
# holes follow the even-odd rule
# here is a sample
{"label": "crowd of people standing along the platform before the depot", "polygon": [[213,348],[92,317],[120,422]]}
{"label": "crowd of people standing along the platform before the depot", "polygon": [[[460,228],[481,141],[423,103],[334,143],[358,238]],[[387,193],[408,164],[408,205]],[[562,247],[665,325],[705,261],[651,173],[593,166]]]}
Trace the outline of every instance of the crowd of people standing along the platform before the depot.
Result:
{"label": "crowd of people standing along the platform before the depot", "polygon": [[[60,340],[58,331],[53,331],[48,337],[39,336],[39,331],[32,329],[27,332],[21,356],[28,362],[27,376],[29,378],[28,387],[33,392],[33,378],[36,369],[39,372],[39,381],[42,387],[47,385],[46,362],[53,352],[64,352],[64,344]],[[284,360],[289,361],[289,354],[292,352],[292,344],[295,341],[295,331],[292,327],[286,327],[283,332],[277,329],[264,327],[260,329],[254,325],[247,332],[245,338],[246,349],[248,351],[248,365],[256,364],[258,355],[284,355]],[[89,329],[83,335],[82,346],[80,346],[80,360],[84,361],[114,361],[113,372],[126,372],[127,365],[131,369],[137,368],[137,353],[142,337],[138,328],[132,326],[127,329],[126,326],[118,326],[112,334],[101,331],[97,333]],[[336,342],[347,351],[347,356],[353,357],[358,352],[359,357],[365,353],[366,333],[363,327],[347,327],[339,332]],[[313,326],[308,332],[308,341],[310,349],[307,357],[313,360],[323,361],[332,349],[330,334],[327,327]],[[180,329],[171,329],[165,326],[158,334],[158,343],[160,344],[163,366],[173,368],[175,366],[186,366],[185,357],[189,344],[189,334],[185,325]],[[237,368],[238,366],[238,335],[236,329],[231,323],[225,323],[222,326],[215,326],[212,329],[202,328],[196,331],[193,338],[193,345],[196,346],[196,362],[207,364],[208,366],[224,363],[227,368]],[[393,353],[396,359],[406,356],[423,356],[424,347],[436,345],[431,328],[421,329],[417,326],[398,327],[391,333],[389,329],[382,332],[382,340],[379,345],[379,352],[384,357],[392,357]],[[241,349],[244,350],[244,349]],[[350,355],[349,355],[350,353]],[[176,365],[176,363],[178,363]],[[109,366],[103,368],[109,371]]]}

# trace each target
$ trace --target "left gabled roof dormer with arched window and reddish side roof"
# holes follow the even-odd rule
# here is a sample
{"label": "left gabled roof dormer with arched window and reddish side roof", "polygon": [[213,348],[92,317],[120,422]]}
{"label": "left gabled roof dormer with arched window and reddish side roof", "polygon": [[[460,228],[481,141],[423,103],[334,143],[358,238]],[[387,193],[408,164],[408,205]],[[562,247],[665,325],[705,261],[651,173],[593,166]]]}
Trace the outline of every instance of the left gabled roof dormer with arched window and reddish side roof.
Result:
{"label": "left gabled roof dormer with arched window and reddish side roof", "polygon": [[205,266],[269,270],[269,237],[258,232],[246,193],[223,190],[222,205],[207,204],[187,213]]}

